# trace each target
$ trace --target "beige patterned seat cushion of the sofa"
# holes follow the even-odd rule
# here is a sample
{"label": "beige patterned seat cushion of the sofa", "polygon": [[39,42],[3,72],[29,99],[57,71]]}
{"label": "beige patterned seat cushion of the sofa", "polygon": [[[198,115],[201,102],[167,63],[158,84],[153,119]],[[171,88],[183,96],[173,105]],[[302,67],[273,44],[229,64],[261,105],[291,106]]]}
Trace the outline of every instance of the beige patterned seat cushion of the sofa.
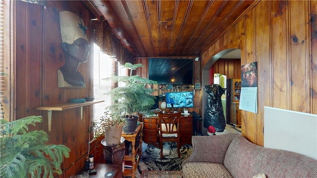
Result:
{"label": "beige patterned seat cushion of the sofa", "polygon": [[233,178],[222,164],[191,162],[182,168],[186,178]]}

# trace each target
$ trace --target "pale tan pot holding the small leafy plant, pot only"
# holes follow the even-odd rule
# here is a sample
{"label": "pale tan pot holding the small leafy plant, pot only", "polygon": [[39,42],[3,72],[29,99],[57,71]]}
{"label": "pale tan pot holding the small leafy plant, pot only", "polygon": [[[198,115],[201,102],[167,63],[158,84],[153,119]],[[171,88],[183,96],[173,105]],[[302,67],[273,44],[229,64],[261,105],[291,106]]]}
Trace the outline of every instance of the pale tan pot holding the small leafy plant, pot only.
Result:
{"label": "pale tan pot holding the small leafy plant, pot only", "polygon": [[123,124],[119,126],[104,127],[105,140],[107,145],[120,143]]}

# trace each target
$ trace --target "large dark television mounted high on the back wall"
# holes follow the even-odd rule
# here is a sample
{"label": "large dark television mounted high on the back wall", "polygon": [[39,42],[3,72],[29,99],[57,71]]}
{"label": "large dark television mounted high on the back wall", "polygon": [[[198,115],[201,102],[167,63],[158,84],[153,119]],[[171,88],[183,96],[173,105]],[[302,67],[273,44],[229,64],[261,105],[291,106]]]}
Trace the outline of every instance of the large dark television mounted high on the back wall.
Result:
{"label": "large dark television mounted high on the back wall", "polygon": [[149,58],[149,78],[158,84],[193,85],[194,60]]}

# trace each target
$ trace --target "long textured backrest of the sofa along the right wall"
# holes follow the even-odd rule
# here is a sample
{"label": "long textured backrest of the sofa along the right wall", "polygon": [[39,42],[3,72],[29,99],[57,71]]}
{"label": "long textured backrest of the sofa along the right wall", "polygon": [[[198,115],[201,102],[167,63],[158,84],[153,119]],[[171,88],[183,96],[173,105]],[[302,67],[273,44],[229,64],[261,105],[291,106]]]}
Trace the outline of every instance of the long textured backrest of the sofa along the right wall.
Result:
{"label": "long textured backrest of the sofa along the right wall", "polygon": [[264,148],[244,136],[232,140],[224,166],[234,178],[317,178],[317,160],[291,151]]}

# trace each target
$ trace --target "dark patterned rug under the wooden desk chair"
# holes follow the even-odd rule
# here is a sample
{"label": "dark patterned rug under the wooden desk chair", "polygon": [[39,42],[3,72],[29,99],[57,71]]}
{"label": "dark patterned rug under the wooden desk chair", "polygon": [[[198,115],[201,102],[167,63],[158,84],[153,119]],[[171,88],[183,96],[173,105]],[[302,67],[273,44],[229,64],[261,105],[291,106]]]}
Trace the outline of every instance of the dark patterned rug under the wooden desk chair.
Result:
{"label": "dark patterned rug under the wooden desk chair", "polygon": [[136,178],[141,178],[142,171],[181,171],[183,161],[192,152],[193,147],[184,144],[180,147],[181,158],[178,158],[176,142],[165,142],[163,143],[163,159],[160,159],[160,149],[149,144],[140,156]]}

